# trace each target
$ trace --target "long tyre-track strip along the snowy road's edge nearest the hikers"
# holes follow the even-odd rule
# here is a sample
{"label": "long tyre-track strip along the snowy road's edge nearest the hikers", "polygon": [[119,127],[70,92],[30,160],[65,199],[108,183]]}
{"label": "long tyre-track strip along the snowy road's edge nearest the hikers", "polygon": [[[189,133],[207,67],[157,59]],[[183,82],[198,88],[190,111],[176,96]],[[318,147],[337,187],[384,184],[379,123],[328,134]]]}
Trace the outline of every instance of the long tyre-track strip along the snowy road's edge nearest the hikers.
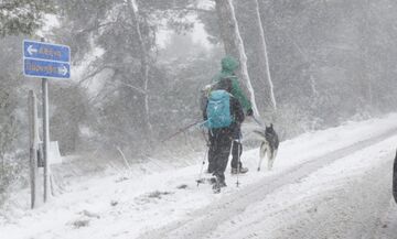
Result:
{"label": "long tyre-track strip along the snowy road's edge nearest the hikers", "polygon": [[276,189],[285,185],[299,183],[309,174],[337,161],[339,159],[382,142],[396,134],[397,129],[394,129],[380,135],[356,142],[350,146],[331,153],[326,153],[325,155],[313,157],[312,160],[292,166],[280,174],[271,175],[264,181],[248,185],[233,195],[221,198],[211,206],[196,210],[184,220],[173,222],[153,231],[148,231],[141,235],[140,238],[198,239],[217,237],[216,235],[211,235],[211,232],[216,230],[219,222],[243,214],[249,205],[261,202],[267,195],[271,194]]}

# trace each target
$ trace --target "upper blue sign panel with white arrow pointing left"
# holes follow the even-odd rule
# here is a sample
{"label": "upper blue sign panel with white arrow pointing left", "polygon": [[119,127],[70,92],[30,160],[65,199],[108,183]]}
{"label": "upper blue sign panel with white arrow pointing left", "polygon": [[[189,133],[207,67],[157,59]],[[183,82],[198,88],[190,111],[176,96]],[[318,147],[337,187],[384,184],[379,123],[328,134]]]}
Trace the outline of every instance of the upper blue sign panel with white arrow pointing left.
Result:
{"label": "upper blue sign panel with white arrow pointing left", "polygon": [[71,48],[66,45],[25,40],[23,41],[23,57],[68,63]]}

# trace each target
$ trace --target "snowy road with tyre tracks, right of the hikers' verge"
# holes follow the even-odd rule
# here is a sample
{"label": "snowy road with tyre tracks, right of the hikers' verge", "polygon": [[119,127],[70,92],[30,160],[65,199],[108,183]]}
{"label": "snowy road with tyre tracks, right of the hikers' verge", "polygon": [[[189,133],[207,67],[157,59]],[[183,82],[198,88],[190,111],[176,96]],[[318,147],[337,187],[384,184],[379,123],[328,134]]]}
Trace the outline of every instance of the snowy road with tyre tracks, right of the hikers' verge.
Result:
{"label": "snowy road with tyre tracks, right of the hikers' verge", "polygon": [[[390,202],[394,154],[382,149],[394,149],[396,135],[393,130],[312,159],[142,238],[375,238],[384,226],[378,218]],[[372,155],[374,151],[380,155]],[[346,161],[356,162],[343,169]],[[319,172],[322,167],[339,173],[321,178],[326,175]],[[344,175],[344,171],[354,172]]]}

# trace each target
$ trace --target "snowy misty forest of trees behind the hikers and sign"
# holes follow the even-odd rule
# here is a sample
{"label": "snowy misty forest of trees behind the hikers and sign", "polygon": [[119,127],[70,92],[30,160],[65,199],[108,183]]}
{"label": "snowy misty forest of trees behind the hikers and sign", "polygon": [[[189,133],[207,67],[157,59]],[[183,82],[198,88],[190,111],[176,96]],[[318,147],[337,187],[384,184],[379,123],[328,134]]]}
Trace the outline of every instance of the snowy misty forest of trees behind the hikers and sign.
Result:
{"label": "snowy misty forest of trees behind the hikers and sign", "polygon": [[[69,45],[50,80],[62,155],[139,163],[202,150],[200,93],[225,55],[281,140],[397,110],[394,0],[0,1],[0,203],[29,177],[25,39]],[[165,141],[164,141],[165,140]]]}

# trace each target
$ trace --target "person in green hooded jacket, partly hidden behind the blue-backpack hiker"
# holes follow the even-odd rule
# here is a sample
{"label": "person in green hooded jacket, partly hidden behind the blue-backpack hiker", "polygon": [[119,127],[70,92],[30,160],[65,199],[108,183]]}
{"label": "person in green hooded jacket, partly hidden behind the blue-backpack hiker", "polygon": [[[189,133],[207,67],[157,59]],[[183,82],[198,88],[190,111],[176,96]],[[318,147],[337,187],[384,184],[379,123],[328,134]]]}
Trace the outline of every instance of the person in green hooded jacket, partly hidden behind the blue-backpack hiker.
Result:
{"label": "person in green hooded jacket, partly hidden behind the blue-backpack hiker", "polygon": [[[235,74],[235,70],[239,66],[237,59],[235,59],[232,56],[226,56],[222,59],[221,65],[222,65],[222,70],[217,75],[215,75],[215,77],[212,80],[212,84],[207,86],[205,90],[208,94],[211,93],[211,90],[219,88],[219,84],[222,84],[223,80],[225,79],[230,80],[232,96],[239,101],[246,116],[253,116],[254,112],[253,112],[251,104],[243,93],[242,88],[239,87],[238,78]],[[235,139],[235,141],[233,143],[233,149],[232,149],[232,155],[233,155],[230,163],[232,174],[247,173],[248,169],[243,167],[243,164],[240,162],[240,156],[243,153],[243,144],[240,143],[240,137],[242,137],[240,123],[234,126],[234,128],[235,129],[233,132],[234,133],[233,138]],[[207,169],[208,173],[214,172],[214,162],[213,162],[214,157],[212,155],[212,152],[213,150],[211,150],[211,145],[210,145],[208,169]]]}

